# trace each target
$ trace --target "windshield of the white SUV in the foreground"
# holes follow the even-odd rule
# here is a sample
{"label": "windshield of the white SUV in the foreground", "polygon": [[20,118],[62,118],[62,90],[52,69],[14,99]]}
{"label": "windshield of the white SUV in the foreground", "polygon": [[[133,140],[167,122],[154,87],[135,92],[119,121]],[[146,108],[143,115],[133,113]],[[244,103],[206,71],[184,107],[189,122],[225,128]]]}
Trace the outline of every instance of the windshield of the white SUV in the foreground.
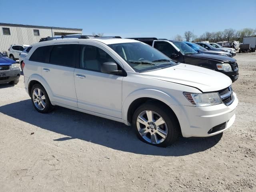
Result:
{"label": "windshield of the white SUV in the foreground", "polygon": [[120,55],[136,72],[146,72],[170,67],[176,63],[160,51],[142,42],[108,45]]}

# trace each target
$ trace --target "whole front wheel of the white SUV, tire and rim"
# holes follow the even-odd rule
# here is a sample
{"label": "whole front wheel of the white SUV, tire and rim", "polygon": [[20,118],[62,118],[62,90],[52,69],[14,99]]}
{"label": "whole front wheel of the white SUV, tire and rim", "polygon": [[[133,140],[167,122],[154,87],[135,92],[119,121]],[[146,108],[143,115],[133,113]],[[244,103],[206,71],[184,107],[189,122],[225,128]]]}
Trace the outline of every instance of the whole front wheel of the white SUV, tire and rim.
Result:
{"label": "whole front wheel of the white SUV, tire and rim", "polygon": [[132,124],[140,140],[159,147],[167,147],[178,138],[179,124],[166,106],[148,102],[138,107]]}

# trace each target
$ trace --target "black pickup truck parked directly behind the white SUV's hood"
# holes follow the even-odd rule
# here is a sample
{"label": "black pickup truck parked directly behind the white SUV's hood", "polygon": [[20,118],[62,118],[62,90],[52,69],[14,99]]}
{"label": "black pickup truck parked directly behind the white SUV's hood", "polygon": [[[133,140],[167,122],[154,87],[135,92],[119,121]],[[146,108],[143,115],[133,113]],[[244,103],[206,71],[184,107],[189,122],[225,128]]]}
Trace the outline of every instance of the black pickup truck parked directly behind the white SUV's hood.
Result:
{"label": "black pickup truck parked directly behind the white SUV's hood", "polygon": [[144,42],[156,48],[176,62],[191,64],[221,72],[229,76],[232,82],[235,82],[238,79],[238,64],[234,58],[198,53],[186,43],[176,40],[157,38],[129,39]]}

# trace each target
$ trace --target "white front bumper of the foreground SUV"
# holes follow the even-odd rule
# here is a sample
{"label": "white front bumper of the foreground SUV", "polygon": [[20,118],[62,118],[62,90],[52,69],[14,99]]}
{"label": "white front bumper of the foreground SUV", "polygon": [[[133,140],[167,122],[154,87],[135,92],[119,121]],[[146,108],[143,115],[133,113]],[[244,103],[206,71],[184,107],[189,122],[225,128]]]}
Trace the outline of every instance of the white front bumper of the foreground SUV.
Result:
{"label": "white front bumper of the foreground SUV", "polygon": [[[234,93],[234,101],[229,106],[219,104],[208,107],[171,105],[176,114],[182,136],[208,137],[219,134],[232,126],[236,118],[235,111],[238,98]],[[226,123],[223,129],[208,133],[212,128]]]}

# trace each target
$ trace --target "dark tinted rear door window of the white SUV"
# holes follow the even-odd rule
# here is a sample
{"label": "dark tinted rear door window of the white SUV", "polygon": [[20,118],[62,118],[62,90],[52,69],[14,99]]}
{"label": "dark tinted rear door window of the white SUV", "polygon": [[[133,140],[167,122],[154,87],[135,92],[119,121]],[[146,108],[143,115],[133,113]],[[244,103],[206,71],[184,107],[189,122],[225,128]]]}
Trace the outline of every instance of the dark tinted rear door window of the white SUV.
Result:
{"label": "dark tinted rear door window of the white SUV", "polygon": [[54,45],[50,54],[50,64],[74,67],[76,46],[76,44]]}

